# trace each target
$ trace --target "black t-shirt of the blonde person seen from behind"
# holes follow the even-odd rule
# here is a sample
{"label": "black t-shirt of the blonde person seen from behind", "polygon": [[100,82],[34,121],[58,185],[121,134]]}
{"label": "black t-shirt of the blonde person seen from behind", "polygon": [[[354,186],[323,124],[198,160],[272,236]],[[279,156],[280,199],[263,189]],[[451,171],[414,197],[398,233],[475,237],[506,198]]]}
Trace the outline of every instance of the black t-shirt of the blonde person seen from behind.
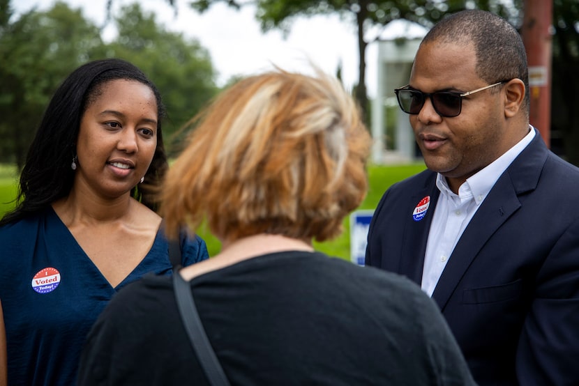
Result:
{"label": "black t-shirt of the blonde person seen from behind", "polygon": [[[472,385],[435,303],[416,284],[310,252],[241,261],[191,281],[232,385]],[[207,385],[172,281],[120,291],[91,330],[79,385]]]}

